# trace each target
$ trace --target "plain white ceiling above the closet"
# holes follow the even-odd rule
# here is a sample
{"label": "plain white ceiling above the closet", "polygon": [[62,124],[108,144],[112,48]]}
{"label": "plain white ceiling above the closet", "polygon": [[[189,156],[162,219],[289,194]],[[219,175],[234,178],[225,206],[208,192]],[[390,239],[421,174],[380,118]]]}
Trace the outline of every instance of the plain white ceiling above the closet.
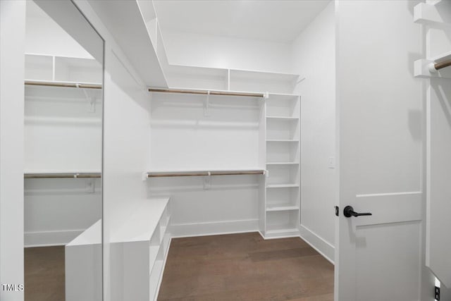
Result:
{"label": "plain white ceiling above the closet", "polygon": [[154,0],[165,31],[292,42],[330,0]]}

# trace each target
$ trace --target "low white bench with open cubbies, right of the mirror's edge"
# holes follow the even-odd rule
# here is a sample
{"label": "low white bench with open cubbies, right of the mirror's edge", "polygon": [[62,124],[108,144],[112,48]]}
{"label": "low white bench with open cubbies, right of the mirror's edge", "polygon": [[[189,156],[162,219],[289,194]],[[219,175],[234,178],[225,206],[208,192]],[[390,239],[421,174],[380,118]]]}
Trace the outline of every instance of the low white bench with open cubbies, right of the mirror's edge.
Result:
{"label": "low white bench with open cubbies, right of the mirror's edge", "polygon": [[[111,237],[111,285],[130,300],[156,300],[171,245],[171,204],[148,199]],[[123,281],[124,275],[127,281]],[[117,285],[117,286],[116,286]],[[139,288],[139,289],[137,289]]]}

